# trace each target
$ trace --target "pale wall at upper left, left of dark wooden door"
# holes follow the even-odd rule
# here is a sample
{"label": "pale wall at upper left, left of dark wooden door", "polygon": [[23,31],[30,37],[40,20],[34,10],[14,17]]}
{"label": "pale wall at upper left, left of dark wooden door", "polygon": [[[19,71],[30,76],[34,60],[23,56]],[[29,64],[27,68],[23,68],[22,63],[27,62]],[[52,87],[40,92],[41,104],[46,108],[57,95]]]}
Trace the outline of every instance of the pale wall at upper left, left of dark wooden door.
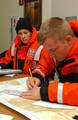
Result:
{"label": "pale wall at upper left, left of dark wooden door", "polygon": [[7,49],[11,42],[12,16],[23,16],[23,6],[19,6],[19,0],[0,0],[0,50]]}

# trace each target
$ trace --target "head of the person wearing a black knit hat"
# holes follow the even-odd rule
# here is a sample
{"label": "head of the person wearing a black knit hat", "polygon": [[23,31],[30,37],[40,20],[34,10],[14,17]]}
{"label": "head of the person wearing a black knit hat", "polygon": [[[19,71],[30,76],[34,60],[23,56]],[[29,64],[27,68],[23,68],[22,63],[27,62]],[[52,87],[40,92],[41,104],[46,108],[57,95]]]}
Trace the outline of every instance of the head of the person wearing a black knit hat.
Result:
{"label": "head of the person wearing a black knit hat", "polygon": [[20,18],[16,24],[16,33],[23,43],[30,39],[33,28],[30,22],[25,18]]}

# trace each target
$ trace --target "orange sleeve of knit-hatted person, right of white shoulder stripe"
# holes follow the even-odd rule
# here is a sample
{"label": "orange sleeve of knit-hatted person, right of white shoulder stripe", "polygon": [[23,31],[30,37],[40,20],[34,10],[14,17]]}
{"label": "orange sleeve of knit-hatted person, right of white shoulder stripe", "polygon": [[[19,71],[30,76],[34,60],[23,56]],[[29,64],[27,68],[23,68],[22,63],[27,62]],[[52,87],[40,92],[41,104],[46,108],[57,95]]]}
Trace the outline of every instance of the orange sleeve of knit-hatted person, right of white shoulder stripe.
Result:
{"label": "orange sleeve of knit-hatted person, right of white shoulder stripe", "polygon": [[42,49],[41,51],[38,68],[45,75],[48,75],[55,68],[54,60],[50,57],[49,53],[45,49]]}

